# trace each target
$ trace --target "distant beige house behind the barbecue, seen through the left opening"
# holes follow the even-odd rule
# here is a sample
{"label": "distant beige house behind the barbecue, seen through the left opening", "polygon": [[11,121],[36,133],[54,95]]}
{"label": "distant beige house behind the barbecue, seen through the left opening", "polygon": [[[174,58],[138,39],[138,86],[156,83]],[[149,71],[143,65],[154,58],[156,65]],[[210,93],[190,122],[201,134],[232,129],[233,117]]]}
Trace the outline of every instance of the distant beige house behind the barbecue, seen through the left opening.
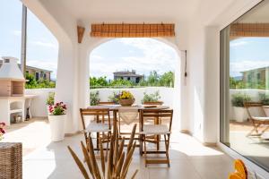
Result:
{"label": "distant beige house behind the barbecue, seen through the left opening", "polygon": [[[3,64],[3,61],[0,60],[0,68]],[[21,68],[21,64],[18,64],[19,67]],[[26,73],[29,73],[31,75],[34,76],[34,78],[38,81],[39,79],[44,79],[44,80],[48,80],[50,81],[50,74],[52,71],[48,71],[45,69],[41,69],[41,68],[36,68],[36,67],[32,67],[32,66],[26,66]]]}

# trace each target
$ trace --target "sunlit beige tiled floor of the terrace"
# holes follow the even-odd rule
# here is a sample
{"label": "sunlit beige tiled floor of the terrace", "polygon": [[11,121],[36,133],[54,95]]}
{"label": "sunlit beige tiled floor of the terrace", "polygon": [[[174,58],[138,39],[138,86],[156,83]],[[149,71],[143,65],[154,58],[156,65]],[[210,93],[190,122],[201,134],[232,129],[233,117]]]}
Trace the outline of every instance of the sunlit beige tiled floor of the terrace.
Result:
{"label": "sunlit beige tiled floor of the terrace", "polygon": [[[42,125],[40,124],[42,123]],[[26,132],[26,133],[22,133]],[[27,139],[22,139],[24,138]],[[15,140],[18,137],[18,140]],[[38,139],[37,139],[38,138]],[[68,179],[82,178],[78,167],[74,164],[66,146],[70,145],[80,158],[82,153],[80,141],[82,134],[65,137],[65,141],[49,142],[48,124],[36,120],[20,129],[8,132],[4,141],[22,141],[24,148],[36,147],[32,150],[24,150],[23,178],[26,179]],[[35,142],[30,145],[30,143]],[[198,141],[187,134],[173,133],[170,142],[171,166],[154,165],[144,167],[143,158],[138,150],[134,153],[129,174],[139,169],[137,179],[226,179],[232,171],[231,158],[223,154],[219,149],[204,147]]]}

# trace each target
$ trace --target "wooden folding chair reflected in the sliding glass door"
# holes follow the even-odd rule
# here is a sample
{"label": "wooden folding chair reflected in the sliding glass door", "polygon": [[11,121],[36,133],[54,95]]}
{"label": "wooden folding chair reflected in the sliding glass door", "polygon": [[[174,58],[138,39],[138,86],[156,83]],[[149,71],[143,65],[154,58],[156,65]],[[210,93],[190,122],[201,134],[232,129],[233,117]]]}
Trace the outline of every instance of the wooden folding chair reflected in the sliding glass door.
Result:
{"label": "wooden folding chair reflected in the sliding glass door", "polygon": [[[263,104],[259,102],[245,102],[244,107],[246,107],[248,118],[252,122],[252,125],[253,125],[253,129],[247,133],[247,137],[248,136],[261,136],[269,128],[269,116],[266,116],[265,109],[263,108]],[[255,116],[252,114],[251,108],[255,108],[255,107],[260,109],[262,113],[261,115]],[[262,125],[265,125],[265,128],[264,130],[259,132],[259,127],[261,127]]]}

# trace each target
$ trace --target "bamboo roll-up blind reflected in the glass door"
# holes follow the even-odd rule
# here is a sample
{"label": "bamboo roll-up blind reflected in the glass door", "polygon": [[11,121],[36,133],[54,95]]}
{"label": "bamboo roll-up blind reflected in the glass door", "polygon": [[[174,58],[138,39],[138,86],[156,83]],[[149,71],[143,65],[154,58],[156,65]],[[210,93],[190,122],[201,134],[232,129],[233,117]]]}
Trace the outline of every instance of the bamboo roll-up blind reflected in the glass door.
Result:
{"label": "bamboo roll-up blind reflected in the glass door", "polygon": [[230,37],[269,37],[269,23],[234,23],[230,25]]}

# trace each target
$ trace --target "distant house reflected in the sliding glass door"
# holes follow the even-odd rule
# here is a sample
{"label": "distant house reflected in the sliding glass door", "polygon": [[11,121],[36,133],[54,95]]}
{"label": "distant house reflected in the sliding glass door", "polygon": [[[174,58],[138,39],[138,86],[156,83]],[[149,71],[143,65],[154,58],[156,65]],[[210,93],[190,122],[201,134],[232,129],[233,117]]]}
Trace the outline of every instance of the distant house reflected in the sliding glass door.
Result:
{"label": "distant house reflected in the sliding glass door", "polygon": [[243,81],[251,82],[251,81],[265,81],[269,78],[269,66],[263,68],[256,68],[248,71],[242,72]]}

